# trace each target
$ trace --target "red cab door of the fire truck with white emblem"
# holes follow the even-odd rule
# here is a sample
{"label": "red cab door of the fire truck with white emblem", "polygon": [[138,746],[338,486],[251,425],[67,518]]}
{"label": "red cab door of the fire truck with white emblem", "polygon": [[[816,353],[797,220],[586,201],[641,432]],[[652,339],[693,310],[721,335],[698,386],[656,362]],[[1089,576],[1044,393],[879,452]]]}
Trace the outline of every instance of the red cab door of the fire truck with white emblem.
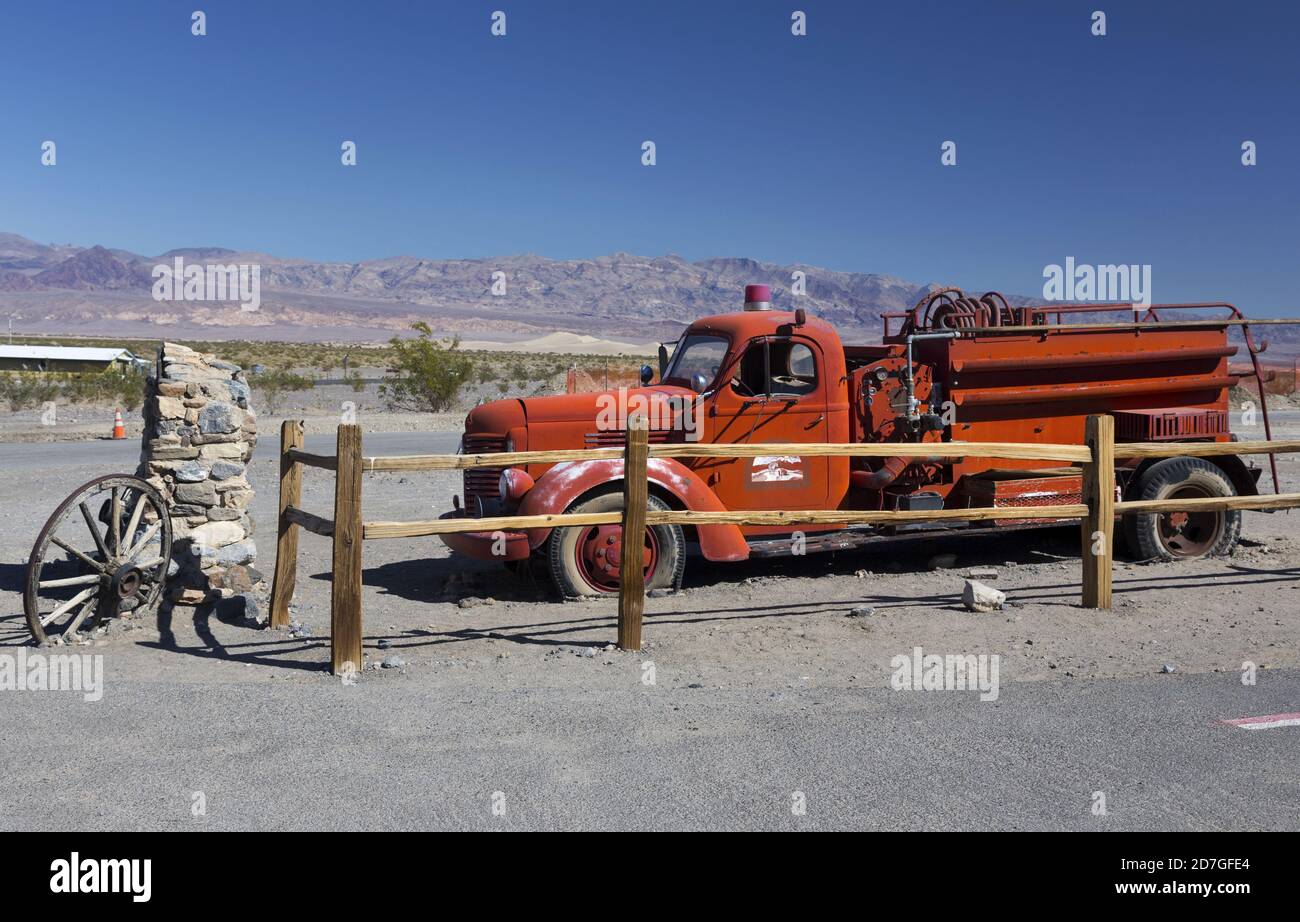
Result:
{"label": "red cab door of the fire truck with white emblem", "polygon": [[[800,336],[750,341],[720,382],[710,412],[719,443],[827,441],[826,363],[812,339]],[[827,508],[828,459],[771,454],[715,458],[697,468],[732,510]]]}

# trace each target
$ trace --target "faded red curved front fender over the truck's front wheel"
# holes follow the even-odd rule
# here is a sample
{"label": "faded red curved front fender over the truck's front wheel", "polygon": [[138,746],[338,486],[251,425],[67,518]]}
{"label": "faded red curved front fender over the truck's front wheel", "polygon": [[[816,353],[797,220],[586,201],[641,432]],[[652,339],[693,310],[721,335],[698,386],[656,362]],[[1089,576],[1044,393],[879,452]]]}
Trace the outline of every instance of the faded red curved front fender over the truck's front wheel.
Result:
{"label": "faded red curved front fender over the truck's front wheel", "polygon": [[[650,482],[671,493],[689,510],[725,512],[718,495],[694,471],[673,458],[651,458],[646,463]],[[556,515],[573,501],[598,486],[623,480],[623,459],[597,462],[564,462],[541,477],[519,503],[520,515]],[[744,560],[749,545],[738,525],[697,525],[699,551],[707,560]],[[550,537],[550,528],[528,529],[528,544],[537,549]]]}

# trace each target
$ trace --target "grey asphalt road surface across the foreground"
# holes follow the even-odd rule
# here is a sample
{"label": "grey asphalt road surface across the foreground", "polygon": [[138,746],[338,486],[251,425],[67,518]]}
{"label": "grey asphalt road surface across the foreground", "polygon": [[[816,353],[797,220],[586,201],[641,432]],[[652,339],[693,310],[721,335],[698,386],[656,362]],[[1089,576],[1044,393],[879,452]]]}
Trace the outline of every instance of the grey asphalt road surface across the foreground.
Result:
{"label": "grey asphalt road surface across the foreground", "polygon": [[[0,826],[1294,830],[1300,674],[963,692],[689,688],[634,661],[552,687],[118,681],[0,696]],[[571,671],[571,672],[569,672]],[[1095,792],[1106,815],[1095,815]],[[195,795],[204,815],[194,815]],[[497,795],[497,792],[500,792]],[[495,814],[503,806],[503,814]],[[794,805],[802,795],[806,813]]]}

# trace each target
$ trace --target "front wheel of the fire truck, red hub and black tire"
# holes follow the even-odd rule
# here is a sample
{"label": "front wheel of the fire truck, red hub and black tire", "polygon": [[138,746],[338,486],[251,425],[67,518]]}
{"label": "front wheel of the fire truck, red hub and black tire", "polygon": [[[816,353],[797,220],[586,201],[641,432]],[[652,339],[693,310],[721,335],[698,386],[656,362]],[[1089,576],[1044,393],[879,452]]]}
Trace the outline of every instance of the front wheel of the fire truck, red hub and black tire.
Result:
{"label": "front wheel of the fire truck, red hub and black tire", "polygon": [[[668,505],[647,497],[651,511]],[[576,503],[566,512],[615,512],[623,508],[621,493],[604,493]],[[547,540],[551,580],[560,596],[610,596],[619,590],[623,560],[621,525],[573,525],[556,528]],[[646,589],[676,589],[686,566],[686,541],[681,525],[650,525],[645,532]]]}

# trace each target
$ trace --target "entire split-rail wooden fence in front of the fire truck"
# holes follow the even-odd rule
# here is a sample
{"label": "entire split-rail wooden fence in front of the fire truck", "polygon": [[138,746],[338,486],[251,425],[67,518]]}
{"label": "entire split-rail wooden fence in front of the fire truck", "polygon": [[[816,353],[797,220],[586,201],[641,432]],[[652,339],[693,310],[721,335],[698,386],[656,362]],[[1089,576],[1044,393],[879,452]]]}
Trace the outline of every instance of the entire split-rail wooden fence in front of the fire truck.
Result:
{"label": "entire split-rail wooden fence in front of the fire truck", "polygon": [[[625,534],[637,534],[647,525],[892,525],[914,521],[988,521],[1006,519],[1078,519],[1083,541],[1083,605],[1109,609],[1113,567],[1114,524],[1117,515],[1280,510],[1300,507],[1300,493],[1256,497],[1206,497],[1115,501],[1115,458],[1212,458],[1300,451],[1300,440],[1269,442],[1123,442],[1114,441],[1114,420],[1108,415],[1089,416],[1084,445],[1035,445],[1022,442],[924,442],[911,445],[650,445],[644,417],[628,421],[627,445],[608,449],[559,451],[510,451],[478,455],[361,455],[361,430],[356,425],[338,428],[337,454],[303,451],[303,424],[286,420],[280,430],[280,521],[276,546],[276,573],[272,585],[270,626],[289,626],[289,602],[298,573],[298,529],[333,541],[333,592],[330,603],[332,667],[344,674],[361,667],[361,546],[377,538],[411,538],[458,532],[521,531],[569,525],[621,524]],[[762,510],[699,512],[690,510],[649,510],[646,507],[650,458],[753,458],[758,455],[854,456],[854,458],[1006,458],[1019,460],[1071,462],[1082,464],[1083,502],[1057,506],[1002,508],[942,508],[916,511],[870,510]],[[560,462],[624,462],[623,508],[611,512],[554,515],[506,515],[434,519],[425,521],[363,521],[361,475],[380,471],[456,471]],[[316,467],[335,473],[334,518],[324,519],[299,507],[302,469]],[[645,576],[640,566],[640,545],[623,542],[623,579],[619,592],[619,646],[641,648],[641,622],[645,606]]]}

